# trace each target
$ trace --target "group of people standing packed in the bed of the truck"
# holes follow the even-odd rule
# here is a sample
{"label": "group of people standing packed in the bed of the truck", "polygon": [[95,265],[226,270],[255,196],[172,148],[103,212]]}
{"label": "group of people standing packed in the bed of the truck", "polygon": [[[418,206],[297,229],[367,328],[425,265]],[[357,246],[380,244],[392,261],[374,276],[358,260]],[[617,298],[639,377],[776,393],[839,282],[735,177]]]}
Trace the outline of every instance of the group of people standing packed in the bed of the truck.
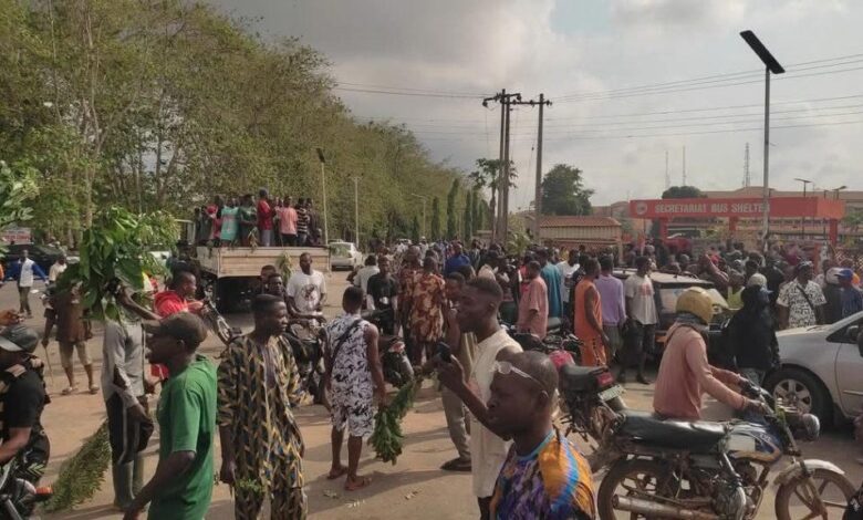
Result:
{"label": "group of people standing packed in the bed of the truck", "polygon": [[257,199],[251,194],[216,196],[211,204],[195,208],[193,219],[199,246],[302,247],[322,246],[323,240],[311,198],[294,201],[266,189],[258,191]]}

